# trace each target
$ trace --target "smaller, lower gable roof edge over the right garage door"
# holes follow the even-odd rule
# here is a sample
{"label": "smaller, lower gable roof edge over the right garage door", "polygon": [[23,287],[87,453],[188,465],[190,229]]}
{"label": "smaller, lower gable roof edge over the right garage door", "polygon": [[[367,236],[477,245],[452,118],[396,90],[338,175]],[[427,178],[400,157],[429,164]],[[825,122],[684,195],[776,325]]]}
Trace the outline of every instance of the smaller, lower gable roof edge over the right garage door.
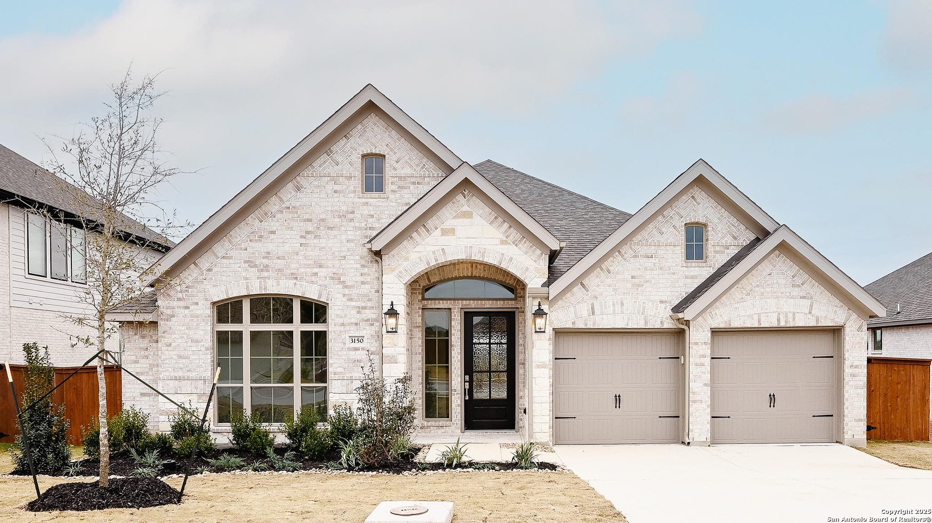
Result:
{"label": "smaller, lower gable roof edge over the right garage door", "polygon": [[[687,295],[682,302],[679,302],[672,312],[675,317],[681,317],[686,320],[692,320],[701,315],[711,304],[732,288],[742,277],[747,275],[758,263],[762,262],[766,256],[774,251],[781,244],[787,245],[798,253],[803,260],[811,263],[818,272],[824,275],[834,283],[841,291],[842,298],[847,298],[848,302],[855,302],[869,312],[870,315],[882,316],[886,314],[886,309],[881,302],[878,302],[870,296],[870,293],[857,285],[857,282],[845,275],[841,269],[822,255],[815,248],[812,248],[799,235],[790,230],[786,225],[774,231],[772,235],[761,240],[757,245],[749,248],[740,260],[735,260],[737,254],[732,260],[726,262],[720,275],[713,278],[709,276],[705,282]],[[747,247],[746,247],[747,248]],[[742,249],[744,250],[744,249]],[[729,266],[730,265],[730,266]],[[718,271],[717,271],[718,273]],[[695,296],[691,296],[695,293]],[[682,306],[680,306],[682,305]],[[679,310],[676,310],[679,309]]]}

